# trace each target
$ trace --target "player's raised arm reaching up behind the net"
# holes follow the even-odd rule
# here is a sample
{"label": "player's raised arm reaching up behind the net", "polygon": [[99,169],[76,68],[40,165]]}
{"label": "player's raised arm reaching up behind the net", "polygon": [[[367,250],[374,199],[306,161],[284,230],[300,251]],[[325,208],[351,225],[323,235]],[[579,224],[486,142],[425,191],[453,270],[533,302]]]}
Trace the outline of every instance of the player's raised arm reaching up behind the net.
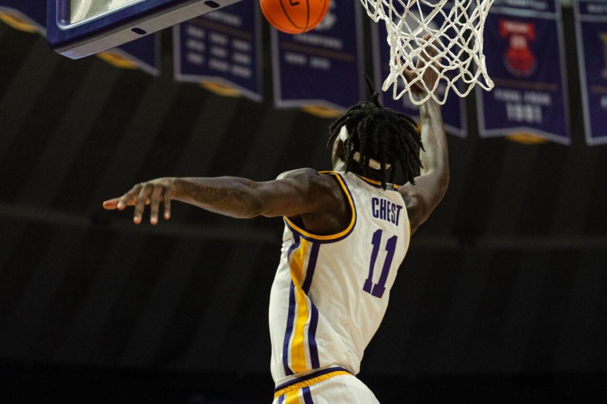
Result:
{"label": "player's raised arm reaching up behind the net", "polygon": [[[428,36],[424,39],[429,39]],[[429,52],[433,50],[431,48]],[[412,76],[413,78],[413,76]],[[438,75],[431,68],[424,73],[427,87],[432,88]],[[421,86],[412,89],[422,93]],[[424,223],[430,213],[443,200],[449,185],[449,150],[447,137],[443,125],[441,107],[430,98],[419,107],[419,125],[421,126],[421,140],[424,150],[421,151],[423,168],[421,175],[415,178],[415,185],[406,184],[399,188],[399,192],[407,204],[407,212],[411,222],[411,230],[415,231]]]}

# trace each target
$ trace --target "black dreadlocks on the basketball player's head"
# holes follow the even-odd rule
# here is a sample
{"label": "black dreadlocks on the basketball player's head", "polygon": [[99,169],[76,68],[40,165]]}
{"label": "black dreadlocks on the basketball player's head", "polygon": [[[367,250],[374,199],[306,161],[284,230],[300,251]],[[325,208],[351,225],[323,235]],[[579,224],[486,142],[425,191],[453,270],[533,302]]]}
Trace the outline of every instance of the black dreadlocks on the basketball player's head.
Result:
{"label": "black dreadlocks on the basketball player's head", "polygon": [[[372,170],[368,166],[369,160],[374,159],[381,164],[381,185],[385,190],[385,166],[392,164],[390,182],[394,182],[394,165],[398,160],[405,181],[415,184],[414,178],[422,168],[419,149],[424,150],[421,136],[415,130],[415,121],[408,115],[382,107],[379,104],[379,93],[375,91],[371,80],[367,75],[364,78],[371,99],[354,105],[333,122],[329,128],[327,146],[334,144],[345,125],[349,135],[344,142],[346,171],[351,171],[353,165],[359,165],[367,176],[368,171]],[[357,151],[361,154],[360,162],[354,160]]]}

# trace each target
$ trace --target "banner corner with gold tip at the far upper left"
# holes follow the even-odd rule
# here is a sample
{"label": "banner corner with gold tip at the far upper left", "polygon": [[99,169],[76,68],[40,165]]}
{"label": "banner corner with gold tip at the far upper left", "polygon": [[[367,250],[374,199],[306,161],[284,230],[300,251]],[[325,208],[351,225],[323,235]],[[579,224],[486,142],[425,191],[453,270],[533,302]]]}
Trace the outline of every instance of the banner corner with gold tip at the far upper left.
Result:
{"label": "banner corner with gold tip at the far upper left", "polygon": [[46,35],[46,1],[0,0],[0,21],[16,30]]}

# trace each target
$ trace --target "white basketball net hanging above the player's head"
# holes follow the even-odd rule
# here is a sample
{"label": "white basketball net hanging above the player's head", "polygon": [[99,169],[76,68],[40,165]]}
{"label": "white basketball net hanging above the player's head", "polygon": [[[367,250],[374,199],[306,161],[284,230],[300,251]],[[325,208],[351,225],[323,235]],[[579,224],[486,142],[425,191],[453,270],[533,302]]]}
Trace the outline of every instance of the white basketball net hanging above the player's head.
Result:
{"label": "white basketball net hanging above the player's head", "polygon": [[[475,84],[485,90],[493,88],[483,55],[483,29],[493,0],[361,0],[361,3],[373,21],[385,22],[390,75],[382,90],[392,86],[394,99],[409,93],[413,104],[420,105],[432,98],[442,105],[450,90],[465,97]],[[425,35],[430,39],[424,40]],[[433,51],[429,51],[431,47]],[[424,82],[424,72],[429,68],[438,75],[431,88]],[[409,79],[404,75],[406,69],[413,71]],[[424,90],[421,96],[410,91],[413,85],[421,85]]]}

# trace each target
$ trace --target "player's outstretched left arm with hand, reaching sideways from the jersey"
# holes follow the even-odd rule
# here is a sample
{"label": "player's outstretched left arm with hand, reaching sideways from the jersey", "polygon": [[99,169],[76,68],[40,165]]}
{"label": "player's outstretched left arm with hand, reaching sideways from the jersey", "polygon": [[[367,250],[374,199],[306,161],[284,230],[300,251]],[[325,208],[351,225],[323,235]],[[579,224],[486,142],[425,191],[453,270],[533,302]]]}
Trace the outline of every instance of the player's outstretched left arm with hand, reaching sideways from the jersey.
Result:
{"label": "player's outstretched left arm with hand, reaching sideways from the jersey", "polygon": [[103,207],[124,210],[134,206],[133,220],[140,224],[145,206],[150,205],[150,222],[155,225],[161,204],[164,219],[171,217],[171,200],[243,219],[337,210],[343,204],[341,191],[332,179],[303,168],[266,182],[239,177],[159,178],[137,184],[121,197],[106,200]]}

